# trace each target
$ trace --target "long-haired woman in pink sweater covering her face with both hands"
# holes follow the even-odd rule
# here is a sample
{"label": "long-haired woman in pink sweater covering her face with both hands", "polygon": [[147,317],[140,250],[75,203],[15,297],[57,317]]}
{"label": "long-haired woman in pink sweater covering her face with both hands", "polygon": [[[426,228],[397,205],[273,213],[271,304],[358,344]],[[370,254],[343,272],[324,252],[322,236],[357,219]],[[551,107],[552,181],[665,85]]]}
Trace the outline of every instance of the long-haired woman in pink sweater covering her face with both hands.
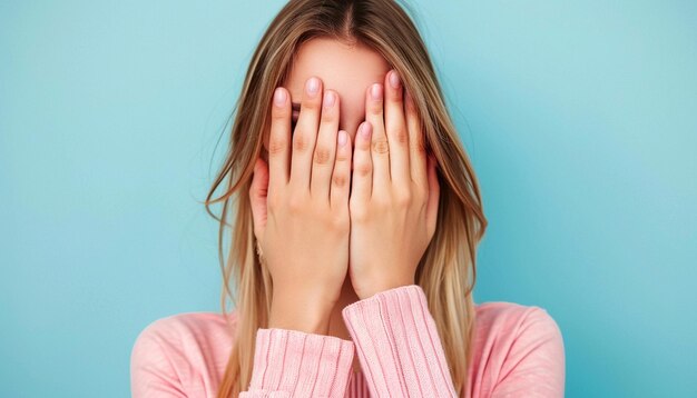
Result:
{"label": "long-haired woman in pink sweater covering her face with both hands", "polygon": [[252,58],[216,202],[222,259],[236,216],[222,315],[141,331],[134,397],[563,396],[553,319],[473,304],[479,185],[394,1],[281,10]]}

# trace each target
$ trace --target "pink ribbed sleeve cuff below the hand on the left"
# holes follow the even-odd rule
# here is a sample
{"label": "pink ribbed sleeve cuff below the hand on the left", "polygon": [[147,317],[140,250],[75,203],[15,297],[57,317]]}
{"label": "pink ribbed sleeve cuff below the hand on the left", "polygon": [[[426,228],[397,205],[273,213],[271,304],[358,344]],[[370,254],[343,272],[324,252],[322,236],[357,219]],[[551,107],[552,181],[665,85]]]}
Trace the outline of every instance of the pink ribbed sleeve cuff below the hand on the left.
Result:
{"label": "pink ribbed sleeve cuff below the hand on the left", "polygon": [[344,397],[354,344],[287,329],[258,329],[254,368],[240,398]]}

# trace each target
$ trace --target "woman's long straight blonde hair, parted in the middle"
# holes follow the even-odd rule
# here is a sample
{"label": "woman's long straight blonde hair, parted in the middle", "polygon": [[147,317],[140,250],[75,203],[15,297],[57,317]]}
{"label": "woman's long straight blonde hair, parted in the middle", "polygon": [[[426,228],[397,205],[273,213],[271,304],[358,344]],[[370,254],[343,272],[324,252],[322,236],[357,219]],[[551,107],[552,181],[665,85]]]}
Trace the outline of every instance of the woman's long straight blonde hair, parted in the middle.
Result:
{"label": "woman's long straight blonde hair, parted in the middle", "polygon": [[[421,116],[426,150],[439,165],[441,195],[436,231],[420,260],[415,281],[426,295],[455,390],[461,395],[467,386],[474,326],[475,249],[487,219],[477,177],[451,121],[425,44],[395,1],[296,0],[274,18],[252,57],[234,110],[230,146],[205,201],[208,213],[219,221],[220,305],[234,331],[218,397],[237,397],[248,388],[256,330],[268,325],[273,286],[268,270],[255,255],[248,190],[269,127],[273,91],[287,78],[298,47],[317,37],[360,43],[381,53],[396,69]],[[212,199],[226,178],[225,193]],[[220,218],[209,208],[217,202],[223,202]],[[230,208],[236,215],[234,227],[227,222]],[[223,248],[226,227],[233,232],[227,261]],[[230,279],[236,282],[236,296],[230,292]],[[234,321],[226,314],[226,297],[236,308]]]}

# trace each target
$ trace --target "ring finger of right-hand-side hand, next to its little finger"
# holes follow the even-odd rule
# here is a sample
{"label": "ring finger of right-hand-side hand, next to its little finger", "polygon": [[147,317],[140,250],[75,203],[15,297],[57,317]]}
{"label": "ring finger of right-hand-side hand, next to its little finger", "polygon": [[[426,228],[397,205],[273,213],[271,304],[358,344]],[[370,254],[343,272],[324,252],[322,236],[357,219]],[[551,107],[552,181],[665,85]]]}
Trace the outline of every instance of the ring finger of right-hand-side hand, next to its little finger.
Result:
{"label": "ring finger of right-hand-side hand, next to its little finger", "polygon": [[387,188],[390,178],[390,145],[383,118],[383,87],[374,83],[366,90],[365,120],[373,128],[371,158],[373,160],[373,191]]}

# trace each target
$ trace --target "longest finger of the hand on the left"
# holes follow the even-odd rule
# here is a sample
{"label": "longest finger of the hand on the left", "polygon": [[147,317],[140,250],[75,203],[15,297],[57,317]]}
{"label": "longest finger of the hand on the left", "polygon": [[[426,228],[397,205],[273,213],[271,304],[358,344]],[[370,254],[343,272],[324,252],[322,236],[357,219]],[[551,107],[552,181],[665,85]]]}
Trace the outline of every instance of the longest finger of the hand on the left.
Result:
{"label": "longest finger of the hand on the left", "polygon": [[293,133],[293,153],[291,157],[289,182],[310,189],[312,158],[315,152],[317,126],[322,108],[322,81],[312,77],[305,82],[301,112]]}

